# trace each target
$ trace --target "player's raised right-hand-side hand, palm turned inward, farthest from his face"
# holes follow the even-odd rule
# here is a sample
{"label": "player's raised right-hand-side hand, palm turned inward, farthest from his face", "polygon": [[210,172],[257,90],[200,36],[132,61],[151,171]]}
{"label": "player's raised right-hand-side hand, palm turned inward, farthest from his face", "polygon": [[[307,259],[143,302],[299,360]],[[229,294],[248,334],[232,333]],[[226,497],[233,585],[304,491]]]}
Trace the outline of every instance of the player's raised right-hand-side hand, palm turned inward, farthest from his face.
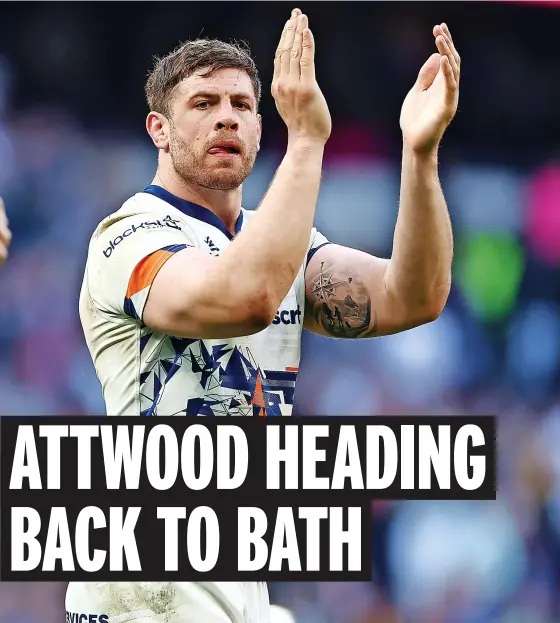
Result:
{"label": "player's raised right-hand-side hand, palm turned inward, farthest from his face", "polygon": [[446,24],[434,27],[438,53],[424,63],[401,110],[405,143],[417,153],[429,153],[457,112],[461,59]]}

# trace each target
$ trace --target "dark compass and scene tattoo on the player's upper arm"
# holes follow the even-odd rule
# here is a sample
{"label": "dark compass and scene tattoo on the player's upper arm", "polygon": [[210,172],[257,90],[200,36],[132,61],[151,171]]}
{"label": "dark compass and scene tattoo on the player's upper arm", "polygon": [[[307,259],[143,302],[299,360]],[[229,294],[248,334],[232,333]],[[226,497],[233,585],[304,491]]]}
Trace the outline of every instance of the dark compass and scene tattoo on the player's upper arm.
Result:
{"label": "dark compass and scene tattoo on the player's upper arm", "polygon": [[334,271],[325,269],[324,264],[321,262],[321,270],[312,281],[308,295],[315,322],[332,337],[352,339],[375,335],[377,317],[367,288],[354,277],[335,277]]}

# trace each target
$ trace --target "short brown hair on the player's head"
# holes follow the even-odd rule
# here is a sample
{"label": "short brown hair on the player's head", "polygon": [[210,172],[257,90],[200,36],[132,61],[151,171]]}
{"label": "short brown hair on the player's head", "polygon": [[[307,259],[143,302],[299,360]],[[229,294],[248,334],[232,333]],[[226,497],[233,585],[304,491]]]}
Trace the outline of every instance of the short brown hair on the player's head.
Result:
{"label": "short brown hair on the player's head", "polygon": [[150,110],[169,114],[175,87],[195,72],[204,69],[209,76],[219,69],[245,71],[255,91],[257,106],[261,99],[261,81],[249,46],[245,42],[226,43],[218,39],[194,39],[180,44],[162,58],[154,58],[154,66],[146,81],[146,99]]}

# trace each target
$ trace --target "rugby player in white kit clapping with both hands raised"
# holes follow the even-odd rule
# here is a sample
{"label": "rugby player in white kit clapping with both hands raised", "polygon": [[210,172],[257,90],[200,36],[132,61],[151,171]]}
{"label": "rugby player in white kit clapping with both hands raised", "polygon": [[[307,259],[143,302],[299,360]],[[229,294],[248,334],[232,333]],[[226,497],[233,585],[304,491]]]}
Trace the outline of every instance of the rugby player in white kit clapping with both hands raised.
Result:
{"label": "rugby player in white kit clapping with both hands raised", "polygon": [[[287,416],[303,327],[371,338],[440,315],[453,239],[437,153],[457,109],[460,59],[445,24],[433,35],[437,52],[401,111],[390,259],[313,227],[331,118],[307,16],[292,12],[276,51],[271,91],[288,145],[256,211],[241,196],[262,131],[248,51],[195,40],[156,62],[146,126],[157,172],[95,230],[80,295],[108,415]],[[344,88],[360,97],[359,85]],[[71,583],[66,609],[111,623],[263,623],[269,604],[258,582]]]}

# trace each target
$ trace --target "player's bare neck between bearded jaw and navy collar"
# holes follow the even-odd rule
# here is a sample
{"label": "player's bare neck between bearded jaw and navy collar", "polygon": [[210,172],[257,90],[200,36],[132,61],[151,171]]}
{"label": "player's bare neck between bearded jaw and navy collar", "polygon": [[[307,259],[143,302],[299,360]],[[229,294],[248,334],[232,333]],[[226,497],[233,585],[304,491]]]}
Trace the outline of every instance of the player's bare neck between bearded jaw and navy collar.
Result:
{"label": "player's bare neck between bearded jaw and navy collar", "polygon": [[241,212],[241,186],[233,190],[213,190],[187,184],[177,176],[158,171],[152,184],[165,188],[176,197],[196,203],[213,212],[235,234],[235,225]]}

